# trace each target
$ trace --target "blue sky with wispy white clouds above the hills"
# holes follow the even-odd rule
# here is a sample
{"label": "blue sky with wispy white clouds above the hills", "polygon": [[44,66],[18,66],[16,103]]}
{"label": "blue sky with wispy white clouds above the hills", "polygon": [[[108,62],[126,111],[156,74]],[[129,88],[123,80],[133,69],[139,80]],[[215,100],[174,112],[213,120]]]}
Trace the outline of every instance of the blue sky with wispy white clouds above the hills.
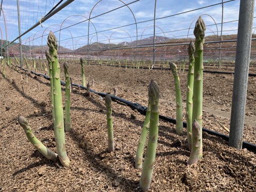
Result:
{"label": "blue sky with wispy white clouds above the hills", "polygon": [[[46,15],[59,1],[19,0],[19,2],[21,33],[23,33],[38,22],[42,16]],[[206,35],[215,35],[218,38],[221,30],[221,4],[211,7],[206,6],[221,2],[215,0],[158,0],[156,4],[156,35],[169,38],[187,38],[187,35],[194,37],[193,30],[196,18],[202,15],[207,26]],[[223,21],[225,23],[223,24],[223,34],[236,34],[238,22],[235,20],[238,20],[240,1],[229,2],[224,0],[224,2],[227,3],[224,4]],[[124,3],[129,4],[129,7],[123,6]],[[154,6],[155,1],[153,0],[75,0],[53,15],[53,17],[43,22],[42,27],[38,26],[23,36],[22,44],[45,45],[47,34],[52,30],[56,31],[54,34],[58,40],[60,39],[61,46],[77,49],[80,46],[86,45],[89,27],[87,19],[90,13],[92,18],[89,29],[90,44],[97,42],[97,37],[98,42],[102,43],[131,42],[137,38],[138,40],[147,38],[153,36]],[[196,10],[201,7],[206,8]],[[6,21],[7,39],[12,41],[19,35],[17,0],[3,0],[2,9]],[[134,24],[135,20],[137,21],[137,26]],[[2,38],[6,39],[4,23],[4,17],[1,13],[0,28]],[[255,22],[253,27],[256,27]],[[18,40],[15,42],[18,43]]]}

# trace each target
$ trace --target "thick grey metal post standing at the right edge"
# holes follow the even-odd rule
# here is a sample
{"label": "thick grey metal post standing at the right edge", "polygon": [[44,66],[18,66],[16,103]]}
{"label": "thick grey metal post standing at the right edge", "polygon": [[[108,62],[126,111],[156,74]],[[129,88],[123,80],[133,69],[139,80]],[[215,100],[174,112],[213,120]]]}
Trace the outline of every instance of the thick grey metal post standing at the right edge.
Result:
{"label": "thick grey metal post standing at the right edge", "polygon": [[254,0],[240,1],[229,146],[242,148]]}

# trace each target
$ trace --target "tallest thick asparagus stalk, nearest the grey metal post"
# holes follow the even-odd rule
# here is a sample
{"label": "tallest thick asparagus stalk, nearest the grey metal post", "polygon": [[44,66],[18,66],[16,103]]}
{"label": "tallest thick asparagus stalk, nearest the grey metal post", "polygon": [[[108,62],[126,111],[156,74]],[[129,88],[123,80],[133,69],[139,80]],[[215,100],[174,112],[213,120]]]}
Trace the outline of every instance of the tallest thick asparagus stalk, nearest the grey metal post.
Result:
{"label": "tallest thick asparagus stalk, nearest the grey metal post", "polygon": [[[195,49],[197,55],[195,55],[195,76],[194,76],[194,91],[193,91],[193,115],[192,121],[198,122],[200,127],[200,153],[199,157],[203,156],[202,145],[202,115],[203,115],[203,49],[204,49],[204,36],[205,36],[205,23],[200,16],[196,22],[194,29]],[[192,138],[193,138],[192,133]],[[193,148],[194,143],[192,143]]]}

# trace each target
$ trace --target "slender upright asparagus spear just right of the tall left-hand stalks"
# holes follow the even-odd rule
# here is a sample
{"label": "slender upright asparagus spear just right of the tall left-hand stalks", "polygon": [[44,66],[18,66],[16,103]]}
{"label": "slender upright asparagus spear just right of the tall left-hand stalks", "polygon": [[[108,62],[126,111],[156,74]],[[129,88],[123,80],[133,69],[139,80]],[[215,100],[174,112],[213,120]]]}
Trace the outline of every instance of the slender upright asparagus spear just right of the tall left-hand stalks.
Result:
{"label": "slender upright asparagus spear just right of the tall left-hand stalks", "polygon": [[71,129],[71,115],[70,115],[70,77],[68,72],[68,63],[65,61],[63,64],[66,82],[65,94],[65,130]]}

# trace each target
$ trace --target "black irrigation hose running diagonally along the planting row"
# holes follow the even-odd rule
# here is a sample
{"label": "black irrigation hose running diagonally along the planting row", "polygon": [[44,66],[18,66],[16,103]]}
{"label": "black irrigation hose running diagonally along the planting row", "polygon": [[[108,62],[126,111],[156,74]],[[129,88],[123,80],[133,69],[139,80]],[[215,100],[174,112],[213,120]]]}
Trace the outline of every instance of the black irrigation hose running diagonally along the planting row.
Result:
{"label": "black irrigation hose running diagonally along the planting row", "polygon": [[[19,66],[15,66],[15,67],[19,67]],[[25,71],[29,71],[27,69],[23,69]],[[46,75],[43,75],[43,74],[38,74],[38,73],[35,73],[34,71],[30,71],[31,74],[34,74],[34,75],[37,75],[37,76],[43,76],[45,79],[47,80],[50,80],[50,77],[46,76]],[[65,82],[61,81],[61,84],[62,85],[65,85]],[[82,85],[78,85],[78,84],[75,84],[73,83],[72,84],[73,86],[79,86],[81,87],[81,89],[86,89],[86,87],[82,86]],[[92,93],[95,93],[95,94],[98,94],[102,97],[105,97],[106,96],[106,93],[101,93],[101,92],[97,92],[97,91],[94,91],[92,89],[90,89],[90,91]],[[131,107],[133,110],[137,110],[139,111],[140,114],[142,115],[146,115],[146,112],[147,112],[147,107],[145,106],[141,106],[139,103],[133,103],[131,101],[127,101],[125,99],[122,99],[122,98],[119,98],[119,97],[116,97],[114,95],[110,95],[110,97],[114,100],[117,100],[117,101],[120,101],[120,102],[123,102],[125,103],[127,106]],[[164,120],[164,121],[167,121],[167,122],[170,122],[170,123],[173,123],[173,124],[176,124],[176,119],[174,118],[170,118],[170,117],[166,117],[166,116],[163,116],[163,115],[159,115],[159,118]],[[186,122],[183,122],[183,127],[187,127],[187,123]],[[218,133],[216,131],[211,131],[211,130],[208,130],[208,129],[205,129],[203,128],[203,131],[208,133],[208,134],[211,134],[211,135],[214,135],[214,136],[217,136],[217,137],[220,137],[221,139],[225,140],[225,141],[228,141],[229,140],[229,137],[225,134],[221,134],[221,133]],[[246,148],[246,149],[249,149],[249,150],[252,150],[254,152],[256,152],[256,145],[250,143],[250,142],[246,142],[246,141],[243,141],[243,145],[242,145],[242,148]]]}

